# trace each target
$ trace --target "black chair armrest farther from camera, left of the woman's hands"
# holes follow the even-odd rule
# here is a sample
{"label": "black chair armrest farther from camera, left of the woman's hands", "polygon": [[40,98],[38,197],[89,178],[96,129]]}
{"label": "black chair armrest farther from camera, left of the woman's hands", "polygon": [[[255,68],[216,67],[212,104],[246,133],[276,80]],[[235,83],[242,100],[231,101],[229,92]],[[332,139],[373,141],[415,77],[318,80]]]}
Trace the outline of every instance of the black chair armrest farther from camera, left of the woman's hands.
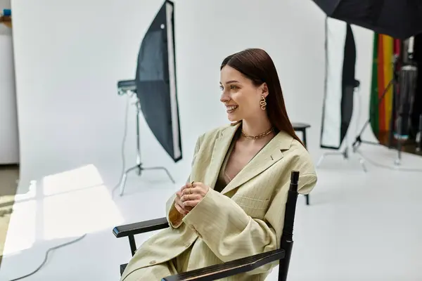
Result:
{"label": "black chair armrest farther from camera, left of the woman's hands", "polygon": [[115,237],[127,237],[141,233],[148,233],[163,228],[168,228],[169,223],[167,218],[155,218],[151,221],[141,221],[139,223],[130,223],[124,226],[116,226],[113,228]]}

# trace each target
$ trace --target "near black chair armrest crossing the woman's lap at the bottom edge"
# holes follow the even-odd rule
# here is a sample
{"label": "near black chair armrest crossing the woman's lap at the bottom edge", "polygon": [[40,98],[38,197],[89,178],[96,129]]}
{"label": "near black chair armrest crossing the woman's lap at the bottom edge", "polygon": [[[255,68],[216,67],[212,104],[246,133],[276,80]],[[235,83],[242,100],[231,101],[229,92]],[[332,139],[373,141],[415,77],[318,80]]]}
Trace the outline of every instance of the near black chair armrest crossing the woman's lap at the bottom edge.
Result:
{"label": "near black chair armrest crossing the woman's lap at the bottom edge", "polygon": [[220,263],[215,266],[208,266],[206,268],[200,268],[197,270],[188,271],[186,273],[168,276],[162,278],[162,281],[219,280],[224,277],[229,277],[237,275],[239,273],[245,273],[254,270],[255,268],[264,266],[267,263],[283,259],[285,255],[286,251],[284,251],[283,249],[267,251],[265,253],[257,254],[255,256],[248,256],[243,259],[236,259],[234,261]]}

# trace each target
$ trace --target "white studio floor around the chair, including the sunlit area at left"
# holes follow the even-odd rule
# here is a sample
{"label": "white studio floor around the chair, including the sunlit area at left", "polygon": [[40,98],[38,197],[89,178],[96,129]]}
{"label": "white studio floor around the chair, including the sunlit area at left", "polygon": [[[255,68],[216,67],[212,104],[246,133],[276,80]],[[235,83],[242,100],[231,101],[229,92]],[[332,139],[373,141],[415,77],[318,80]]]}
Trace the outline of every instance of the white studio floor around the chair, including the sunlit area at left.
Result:
{"label": "white studio floor around the chair, including the sunlit area at left", "polygon": [[[385,166],[395,159],[386,148],[363,152]],[[290,281],[422,280],[422,158],[404,155],[402,166],[421,171],[366,163],[364,172],[355,157],[324,160],[311,205],[305,197],[298,200]],[[113,236],[113,226],[164,216],[165,201],[181,185],[160,172],[130,174],[124,196],[115,192],[113,198],[118,178],[110,174],[120,169],[88,165],[20,184],[0,280],[32,272],[47,249],[84,233],[79,242],[51,252],[45,266],[25,280],[118,280],[130,251],[126,239]],[[276,270],[268,280],[276,280]]]}

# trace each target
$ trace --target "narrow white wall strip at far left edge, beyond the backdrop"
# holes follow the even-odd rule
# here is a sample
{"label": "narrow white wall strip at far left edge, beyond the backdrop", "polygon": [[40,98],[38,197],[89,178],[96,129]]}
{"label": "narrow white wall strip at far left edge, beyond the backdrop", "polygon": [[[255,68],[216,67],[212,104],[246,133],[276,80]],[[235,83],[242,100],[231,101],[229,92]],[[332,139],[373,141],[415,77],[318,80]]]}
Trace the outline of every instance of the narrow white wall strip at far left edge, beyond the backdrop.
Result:
{"label": "narrow white wall strip at far left edge, beyond the backdrop", "polygon": [[[9,0],[0,0],[1,13],[10,7]],[[17,163],[19,140],[13,38],[11,28],[0,24],[0,164]]]}

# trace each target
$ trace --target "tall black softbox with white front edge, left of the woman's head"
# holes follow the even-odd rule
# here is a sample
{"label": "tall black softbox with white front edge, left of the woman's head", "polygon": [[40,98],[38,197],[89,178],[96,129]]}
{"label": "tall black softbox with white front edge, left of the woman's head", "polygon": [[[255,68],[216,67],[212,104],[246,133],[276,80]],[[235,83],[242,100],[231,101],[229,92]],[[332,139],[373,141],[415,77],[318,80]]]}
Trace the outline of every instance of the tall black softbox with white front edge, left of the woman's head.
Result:
{"label": "tall black softbox with white front edge, left of the woman's head", "polygon": [[139,49],[136,93],[148,126],[174,162],[182,158],[174,50],[174,4],[165,1]]}

